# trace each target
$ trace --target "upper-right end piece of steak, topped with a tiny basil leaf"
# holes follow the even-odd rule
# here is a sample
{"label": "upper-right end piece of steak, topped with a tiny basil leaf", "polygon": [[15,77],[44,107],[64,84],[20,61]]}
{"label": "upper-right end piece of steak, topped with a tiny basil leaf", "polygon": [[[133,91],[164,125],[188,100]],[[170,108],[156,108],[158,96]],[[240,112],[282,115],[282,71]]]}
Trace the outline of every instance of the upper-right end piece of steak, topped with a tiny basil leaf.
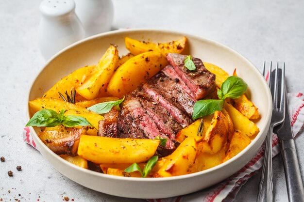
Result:
{"label": "upper-right end piece of steak, topped with a tiny basil leaf", "polygon": [[203,62],[198,58],[192,58],[196,69],[188,70],[185,67],[184,60],[186,55],[177,53],[169,53],[167,60],[173,66],[176,73],[186,83],[188,88],[194,93],[196,99],[202,99],[207,94],[215,90],[215,75],[209,72],[203,65]]}

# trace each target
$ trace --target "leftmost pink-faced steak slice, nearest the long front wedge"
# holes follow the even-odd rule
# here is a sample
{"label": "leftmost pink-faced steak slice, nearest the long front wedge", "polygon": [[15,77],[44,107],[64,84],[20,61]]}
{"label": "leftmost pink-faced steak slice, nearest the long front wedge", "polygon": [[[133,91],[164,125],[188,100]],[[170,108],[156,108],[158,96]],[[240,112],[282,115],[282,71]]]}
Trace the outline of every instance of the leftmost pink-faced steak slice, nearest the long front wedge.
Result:
{"label": "leftmost pink-faced steak slice, nearest the long front wedge", "polygon": [[129,110],[134,122],[139,128],[144,131],[146,138],[155,139],[161,137],[167,139],[166,148],[173,149],[174,142],[168,138],[164,133],[160,132],[157,125],[154,123],[152,118],[147,114],[147,111],[143,109],[139,100],[130,98],[124,101],[124,107]]}

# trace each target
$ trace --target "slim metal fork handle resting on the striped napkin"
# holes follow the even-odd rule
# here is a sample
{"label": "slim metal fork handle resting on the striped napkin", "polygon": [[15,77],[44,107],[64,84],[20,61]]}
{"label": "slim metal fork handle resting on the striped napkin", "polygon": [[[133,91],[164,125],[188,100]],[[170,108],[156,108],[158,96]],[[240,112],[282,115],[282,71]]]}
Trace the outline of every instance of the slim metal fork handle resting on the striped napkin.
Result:
{"label": "slim metal fork handle resting on the striped napkin", "polygon": [[257,202],[272,202],[272,131],[273,124],[270,124],[266,136],[264,162]]}

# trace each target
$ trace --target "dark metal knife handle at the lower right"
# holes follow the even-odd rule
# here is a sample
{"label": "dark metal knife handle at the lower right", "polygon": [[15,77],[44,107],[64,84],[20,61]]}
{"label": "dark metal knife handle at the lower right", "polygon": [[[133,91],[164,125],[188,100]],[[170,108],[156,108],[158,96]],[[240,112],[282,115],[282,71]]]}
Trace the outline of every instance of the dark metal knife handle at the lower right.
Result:
{"label": "dark metal knife handle at the lower right", "polygon": [[289,202],[304,202],[304,188],[293,139],[280,140]]}

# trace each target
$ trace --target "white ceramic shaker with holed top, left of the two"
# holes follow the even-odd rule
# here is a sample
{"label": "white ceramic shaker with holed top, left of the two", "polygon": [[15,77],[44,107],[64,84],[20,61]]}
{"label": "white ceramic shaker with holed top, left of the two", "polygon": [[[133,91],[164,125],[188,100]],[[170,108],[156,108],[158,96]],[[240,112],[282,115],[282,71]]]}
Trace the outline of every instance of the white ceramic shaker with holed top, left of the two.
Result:
{"label": "white ceramic shaker with holed top, left of the two", "polygon": [[84,28],[75,14],[73,0],[43,0],[39,25],[39,48],[45,60],[84,38]]}

